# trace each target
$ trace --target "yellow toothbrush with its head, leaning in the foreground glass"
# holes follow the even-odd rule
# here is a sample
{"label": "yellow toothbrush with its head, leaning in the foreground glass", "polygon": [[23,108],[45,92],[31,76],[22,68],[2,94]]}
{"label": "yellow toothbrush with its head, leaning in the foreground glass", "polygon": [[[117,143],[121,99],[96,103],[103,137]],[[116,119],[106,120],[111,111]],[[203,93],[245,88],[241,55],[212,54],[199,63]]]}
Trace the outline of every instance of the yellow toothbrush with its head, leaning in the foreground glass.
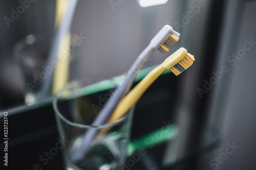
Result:
{"label": "yellow toothbrush with its head, leaning in the foreground glass", "polygon": [[121,118],[131,107],[138,102],[142,94],[148,87],[167,69],[178,76],[193,64],[195,58],[193,55],[187,53],[187,50],[181,47],[174,54],[170,55],[159,66],[154,68],[150,73],[144,77],[124,98],[120,101],[112,116],[108,120],[108,123],[115,122]]}

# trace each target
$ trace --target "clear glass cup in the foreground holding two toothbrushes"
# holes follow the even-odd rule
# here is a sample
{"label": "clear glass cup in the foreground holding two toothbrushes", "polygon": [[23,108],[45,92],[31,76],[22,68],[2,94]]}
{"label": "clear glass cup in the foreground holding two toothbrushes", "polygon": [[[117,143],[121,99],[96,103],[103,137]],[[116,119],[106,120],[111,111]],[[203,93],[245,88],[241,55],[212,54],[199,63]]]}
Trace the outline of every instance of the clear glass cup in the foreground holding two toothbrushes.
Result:
{"label": "clear glass cup in the foreground holding two toothbrushes", "polygon": [[[115,88],[112,79],[87,77],[72,81],[54,96],[59,136],[67,142],[62,149],[67,170],[118,169],[124,163],[134,107],[114,123],[91,126]],[[84,135],[95,130],[98,135],[92,141],[87,141],[90,142],[88,152],[82,161],[75,161],[74,151],[81,146]]]}

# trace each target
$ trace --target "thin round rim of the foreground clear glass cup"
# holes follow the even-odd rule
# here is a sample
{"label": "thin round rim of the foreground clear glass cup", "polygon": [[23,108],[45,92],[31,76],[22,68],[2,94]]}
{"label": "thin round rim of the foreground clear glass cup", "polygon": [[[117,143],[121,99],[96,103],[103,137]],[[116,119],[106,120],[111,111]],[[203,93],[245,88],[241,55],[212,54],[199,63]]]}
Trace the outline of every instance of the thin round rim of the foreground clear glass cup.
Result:
{"label": "thin round rim of the foreground clear glass cup", "polygon": [[54,109],[55,115],[57,115],[59,118],[61,118],[63,120],[63,122],[65,122],[65,123],[67,123],[67,124],[69,124],[71,126],[74,126],[74,127],[77,127],[77,128],[82,128],[82,129],[103,129],[103,128],[109,128],[109,127],[116,126],[116,125],[124,122],[127,118],[129,118],[129,116],[132,114],[132,112],[134,110],[134,106],[126,114],[124,114],[121,118],[119,118],[115,122],[109,123],[109,124],[97,125],[97,126],[73,123],[71,120],[67,119],[65,116],[63,116],[60,113],[60,111],[58,109],[58,106],[57,106],[57,102],[58,102],[58,98],[59,98],[61,92],[63,92],[67,88],[70,88],[70,86],[72,85],[73,82],[86,80],[87,78],[90,78],[90,77],[109,78],[109,79],[105,79],[105,80],[112,80],[114,82],[114,80],[110,79],[110,77],[103,77],[103,76],[89,76],[89,77],[85,77],[85,78],[82,78],[82,79],[76,79],[76,80],[73,80],[73,81],[69,82],[68,84],[66,84],[65,87],[63,87],[60,90],[58,90],[54,94],[54,96],[53,96],[52,104],[53,104],[53,109]]}

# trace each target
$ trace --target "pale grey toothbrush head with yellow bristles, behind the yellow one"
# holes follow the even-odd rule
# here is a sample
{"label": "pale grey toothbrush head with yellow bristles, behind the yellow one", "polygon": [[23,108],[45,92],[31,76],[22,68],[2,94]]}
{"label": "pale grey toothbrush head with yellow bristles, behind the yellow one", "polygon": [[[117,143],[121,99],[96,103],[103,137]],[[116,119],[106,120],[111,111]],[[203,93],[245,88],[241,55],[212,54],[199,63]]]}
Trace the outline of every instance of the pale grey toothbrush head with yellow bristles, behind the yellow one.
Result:
{"label": "pale grey toothbrush head with yellow bristles, behind the yellow one", "polygon": [[172,27],[165,25],[157,35],[151,40],[151,43],[162,53],[167,53],[172,46],[179,41],[180,33],[173,30]]}

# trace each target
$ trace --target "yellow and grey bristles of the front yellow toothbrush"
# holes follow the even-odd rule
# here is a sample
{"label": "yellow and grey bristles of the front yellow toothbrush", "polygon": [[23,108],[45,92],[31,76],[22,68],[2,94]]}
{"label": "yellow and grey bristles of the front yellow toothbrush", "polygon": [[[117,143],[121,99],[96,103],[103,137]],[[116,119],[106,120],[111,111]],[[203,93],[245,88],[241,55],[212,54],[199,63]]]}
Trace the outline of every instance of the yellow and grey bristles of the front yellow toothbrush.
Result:
{"label": "yellow and grey bristles of the front yellow toothbrush", "polygon": [[187,53],[185,57],[175,66],[170,68],[170,70],[175,74],[175,76],[178,76],[181,74],[181,72],[185,71],[185,69],[190,67],[194,63],[194,61],[195,61],[194,56]]}

